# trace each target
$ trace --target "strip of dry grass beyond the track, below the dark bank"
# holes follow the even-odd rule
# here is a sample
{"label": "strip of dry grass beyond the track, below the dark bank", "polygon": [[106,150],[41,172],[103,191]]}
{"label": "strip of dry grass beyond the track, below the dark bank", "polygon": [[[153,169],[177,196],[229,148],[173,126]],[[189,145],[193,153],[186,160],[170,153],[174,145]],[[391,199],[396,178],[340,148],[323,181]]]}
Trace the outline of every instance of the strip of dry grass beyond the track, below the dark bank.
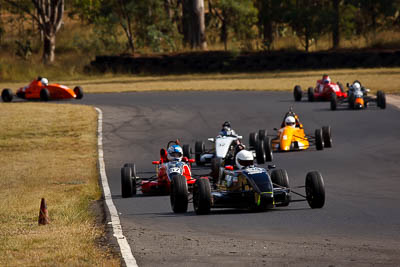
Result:
{"label": "strip of dry grass beyond the track, below the dark bank", "polygon": [[[242,74],[197,74],[169,76],[104,76],[79,81],[62,81],[69,86],[81,85],[86,93],[164,90],[279,90],[291,91],[299,84],[314,86],[323,73],[342,83],[360,80],[372,91],[400,92],[400,68],[340,69]],[[0,88],[16,89],[26,83],[0,83]]]}

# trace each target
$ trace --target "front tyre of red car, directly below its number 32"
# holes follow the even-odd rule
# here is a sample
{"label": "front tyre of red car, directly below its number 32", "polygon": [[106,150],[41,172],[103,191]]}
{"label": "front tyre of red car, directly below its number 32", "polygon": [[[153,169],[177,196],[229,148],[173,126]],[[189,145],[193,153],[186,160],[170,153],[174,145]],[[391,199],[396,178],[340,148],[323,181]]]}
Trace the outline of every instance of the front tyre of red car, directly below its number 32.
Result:
{"label": "front tyre of red car, directly below its number 32", "polygon": [[172,176],[170,200],[174,213],[187,211],[189,191],[185,176],[180,174]]}

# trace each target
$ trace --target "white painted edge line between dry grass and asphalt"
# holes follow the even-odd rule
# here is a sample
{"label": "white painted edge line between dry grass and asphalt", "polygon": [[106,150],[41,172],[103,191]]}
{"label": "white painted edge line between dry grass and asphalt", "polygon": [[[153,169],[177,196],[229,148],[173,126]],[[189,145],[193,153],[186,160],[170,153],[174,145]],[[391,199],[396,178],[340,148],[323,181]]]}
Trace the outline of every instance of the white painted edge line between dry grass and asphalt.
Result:
{"label": "white painted edge line between dry grass and asphalt", "polygon": [[118,245],[121,250],[121,256],[125,261],[127,267],[137,267],[136,259],[133,257],[131,247],[129,246],[126,237],[122,233],[121,221],[119,220],[117,208],[112,200],[111,190],[108,186],[108,179],[106,175],[106,168],[104,163],[104,152],[103,152],[103,112],[101,109],[95,107],[98,113],[98,124],[97,124],[97,146],[98,146],[98,157],[99,157],[99,171],[101,177],[101,183],[103,186],[104,199],[107,204],[108,210],[111,216],[111,225],[113,228],[114,236],[118,241]]}

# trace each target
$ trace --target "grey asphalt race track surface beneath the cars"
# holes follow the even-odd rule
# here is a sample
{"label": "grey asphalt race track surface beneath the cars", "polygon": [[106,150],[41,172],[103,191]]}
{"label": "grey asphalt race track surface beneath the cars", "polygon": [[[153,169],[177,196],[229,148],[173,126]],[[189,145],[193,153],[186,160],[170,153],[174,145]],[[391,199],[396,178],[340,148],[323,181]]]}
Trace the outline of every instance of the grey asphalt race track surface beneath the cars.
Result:
{"label": "grey asphalt race track surface beneath the cars", "polygon": [[[399,265],[400,110],[329,109],[329,102],[294,102],[288,92],[152,92],[86,94],[75,103],[103,110],[106,171],[124,234],[139,266]],[[121,197],[120,168],[153,171],[159,150],[179,138],[215,137],[225,120],[243,135],[279,127],[289,107],[306,132],[331,125],[333,147],[275,153],[273,163],[304,185],[319,170],[322,209],[307,202],[268,212],[213,210],[174,214],[169,196]],[[207,168],[194,168],[205,174]],[[142,174],[148,176],[148,174]]]}

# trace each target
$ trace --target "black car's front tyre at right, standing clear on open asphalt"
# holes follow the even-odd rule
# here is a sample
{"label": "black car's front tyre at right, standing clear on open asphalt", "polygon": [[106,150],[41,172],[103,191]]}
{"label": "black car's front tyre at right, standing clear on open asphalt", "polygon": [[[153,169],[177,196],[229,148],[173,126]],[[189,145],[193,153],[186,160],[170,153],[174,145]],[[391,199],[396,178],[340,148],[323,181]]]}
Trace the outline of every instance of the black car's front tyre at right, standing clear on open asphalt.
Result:
{"label": "black car's front tyre at right, standing clear on open asphalt", "polygon": [[312,209],[322,208],[325,204],[325,185],[321,173],[309,172],[306,176],[306,197]]}

